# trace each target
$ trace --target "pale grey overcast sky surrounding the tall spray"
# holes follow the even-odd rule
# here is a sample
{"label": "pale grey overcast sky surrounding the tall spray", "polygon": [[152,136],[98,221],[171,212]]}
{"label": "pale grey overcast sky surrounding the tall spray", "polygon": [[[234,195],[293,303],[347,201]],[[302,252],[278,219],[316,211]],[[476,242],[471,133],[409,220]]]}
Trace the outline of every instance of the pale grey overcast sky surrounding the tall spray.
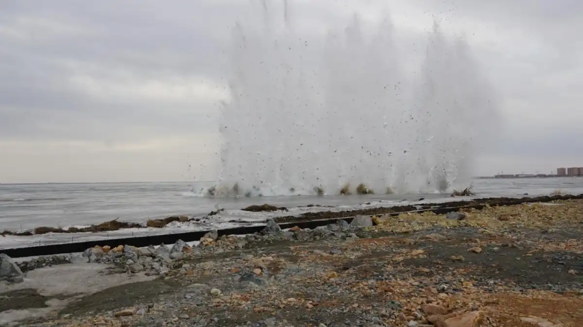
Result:
{"label": "pale grey overcast sky surrounding the tall spray", "polygon": [[[215,179],[231,30],[253,15],[251,2],[2,1],[0,183]],[[467,39],[500,98],[491,126],[500,140],[479,151],[475,173],[583,166],[583,2],[289,0],[289,8],[306,39],[355,12],[378,21],[384,9],[417,46],[438,20]]]}

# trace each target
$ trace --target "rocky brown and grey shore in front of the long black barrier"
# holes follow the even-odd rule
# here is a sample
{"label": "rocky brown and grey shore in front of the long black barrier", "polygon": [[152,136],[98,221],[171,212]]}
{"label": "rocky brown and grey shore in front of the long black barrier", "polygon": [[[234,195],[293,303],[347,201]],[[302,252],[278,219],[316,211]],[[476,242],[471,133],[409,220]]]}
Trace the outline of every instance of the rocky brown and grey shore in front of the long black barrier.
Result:
{"label": "rocky brown and grey shore in front of the long black barrier", "polygon": [[19,285],[71,260],[3,257],[0,325],[576,327],[582,237],[583,201],[558,200],[93,247],[83,265],[104,267],[94,278],[129,283],[19,322],[6,317],[54,301]]}

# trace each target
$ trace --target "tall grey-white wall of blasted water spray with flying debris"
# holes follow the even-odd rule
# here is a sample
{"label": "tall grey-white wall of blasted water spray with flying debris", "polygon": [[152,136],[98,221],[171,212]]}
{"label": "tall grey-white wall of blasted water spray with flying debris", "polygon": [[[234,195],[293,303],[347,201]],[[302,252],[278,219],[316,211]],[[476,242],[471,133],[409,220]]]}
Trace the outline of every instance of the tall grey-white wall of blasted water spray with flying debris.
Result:
{"label": "tall grey-white wall of blasted water spray with flying debris", "polygon": [[[435,24],[417,74],[402,70],[389,17],[354,16],[312,45],[283,10],[233,32],[231,101],[222,108],[215,196],[376,194],[469,186],[485,119],[496,111],[466,41]],[[281,8],[280,8],[281,9]]]}

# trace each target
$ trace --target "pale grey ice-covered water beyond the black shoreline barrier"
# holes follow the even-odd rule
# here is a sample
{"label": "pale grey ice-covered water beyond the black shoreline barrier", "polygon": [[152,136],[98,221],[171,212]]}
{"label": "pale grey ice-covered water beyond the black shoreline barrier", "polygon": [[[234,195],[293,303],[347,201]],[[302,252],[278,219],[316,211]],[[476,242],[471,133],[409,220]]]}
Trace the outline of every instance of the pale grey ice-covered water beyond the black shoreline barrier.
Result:
{"label": "pale grey ice-covered water beyond the black shoreline barrier", "polygon": [[[170,215],[204,216],[216,208],[225,211],[207,222],[174,224],[164,229],[125,229],[111,233],[45,234],[42,236],[0,236],[0,248],[33,244],[63,243],[132,236],[132,234],[181,233],[238,226],[229,222],[265,221],[268,216],[301,214],[323,209],[348,210],[366,207],[449,201],[440,194],[366,195],[366,196],[276,196],[262,198],[209,198],[201,191],[213,183],[103,183],[103,184],[0,184],[0,230],[32,229],[38,226],[90,225],[120,218],[122,221],[145,222],[148,218]],[[554,190],[583,193],[582,177],[542,179],[473,180],[478,197],[548,195]],[[401,200],[408,200],[399,202]],[[370,202],[370,204],[367,204]],[[269,203],[287,207],[289,212],[245,212],[252,204]],[[330,205],[332,208],[305,207],[308,204]],[[250,223],[247,223],[249,225]]]}

